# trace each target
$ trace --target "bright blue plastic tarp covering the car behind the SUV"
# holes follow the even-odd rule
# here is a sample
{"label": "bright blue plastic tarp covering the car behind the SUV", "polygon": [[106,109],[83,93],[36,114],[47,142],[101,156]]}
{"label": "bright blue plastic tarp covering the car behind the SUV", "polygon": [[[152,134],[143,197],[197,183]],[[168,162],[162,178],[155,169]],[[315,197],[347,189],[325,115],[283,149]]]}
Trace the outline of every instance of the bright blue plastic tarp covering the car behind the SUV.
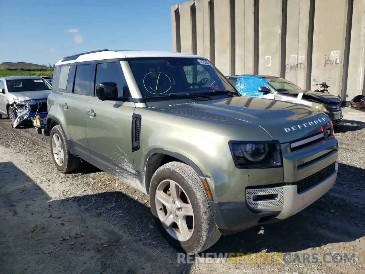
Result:
{"label": "bright blue plastic tarp covering the car behind the SUV", "polygon": [[258,87],[266,87],[268,81],[265,78],[251,75],[241,75],[236,82],[236,89],[242,96],[264,97],[264,93],[257,91]]}

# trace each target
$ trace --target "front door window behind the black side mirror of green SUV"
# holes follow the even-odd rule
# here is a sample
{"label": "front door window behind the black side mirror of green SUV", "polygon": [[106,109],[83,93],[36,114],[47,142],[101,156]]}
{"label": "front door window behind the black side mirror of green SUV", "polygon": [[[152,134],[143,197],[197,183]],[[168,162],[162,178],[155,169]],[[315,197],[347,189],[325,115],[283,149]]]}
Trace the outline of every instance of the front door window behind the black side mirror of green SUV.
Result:
{"label": "front door window behind the black side mirror of green SUV", "polygon": [[[116,62],[100,63],[96,66],[95,86],[99,83],[114,82],[117,84],[118,96],[129,96],[127,82],[120,65]],[[95,96],[95,87],[94,87]]]}

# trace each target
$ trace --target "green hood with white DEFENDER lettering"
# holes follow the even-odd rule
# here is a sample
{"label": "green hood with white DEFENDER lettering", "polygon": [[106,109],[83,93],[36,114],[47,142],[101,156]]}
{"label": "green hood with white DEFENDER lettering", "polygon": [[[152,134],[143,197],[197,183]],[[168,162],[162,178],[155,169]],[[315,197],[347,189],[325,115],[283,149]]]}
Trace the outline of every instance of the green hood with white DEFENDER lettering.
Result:
{"label": "green hood with white DEFENDER lettering", "polygon": [[[166,102],[165,102],[166,103]],[[211,119],[212,122],[245,122],[264,128],[274,141],[290,142],[323,131],[330,118],[304,105],[257,97],[234,97],[176,105],[157,105],[160,111]]]}

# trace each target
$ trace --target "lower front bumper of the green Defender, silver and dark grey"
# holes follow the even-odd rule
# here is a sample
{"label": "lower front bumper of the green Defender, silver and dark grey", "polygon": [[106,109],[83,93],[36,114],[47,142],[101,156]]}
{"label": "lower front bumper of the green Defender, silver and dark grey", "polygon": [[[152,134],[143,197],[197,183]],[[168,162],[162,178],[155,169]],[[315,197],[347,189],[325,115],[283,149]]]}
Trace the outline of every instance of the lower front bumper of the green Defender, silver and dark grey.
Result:
{"label": "lower front bumper of the green Defender, silver and dark grey", "polygon": [[[335,161],[324,179],[308,185],[288,184],[273,187],[255,187],[246,190],[246,202],[210,202],[211,212],[216,225],[223,235],[230,235],[259,224],[268,224],[284,220],[300,212],[322,197],[335,183],[338,161]],[[324,170],[324,169],[323,169]],[[315,174],[314,174],[315,175]],[[318,176],[318,175],[315,175]],[[299,193],[298,193],[299,192]],[[254,201],[254,197],[272,195],[272,199]]]}

